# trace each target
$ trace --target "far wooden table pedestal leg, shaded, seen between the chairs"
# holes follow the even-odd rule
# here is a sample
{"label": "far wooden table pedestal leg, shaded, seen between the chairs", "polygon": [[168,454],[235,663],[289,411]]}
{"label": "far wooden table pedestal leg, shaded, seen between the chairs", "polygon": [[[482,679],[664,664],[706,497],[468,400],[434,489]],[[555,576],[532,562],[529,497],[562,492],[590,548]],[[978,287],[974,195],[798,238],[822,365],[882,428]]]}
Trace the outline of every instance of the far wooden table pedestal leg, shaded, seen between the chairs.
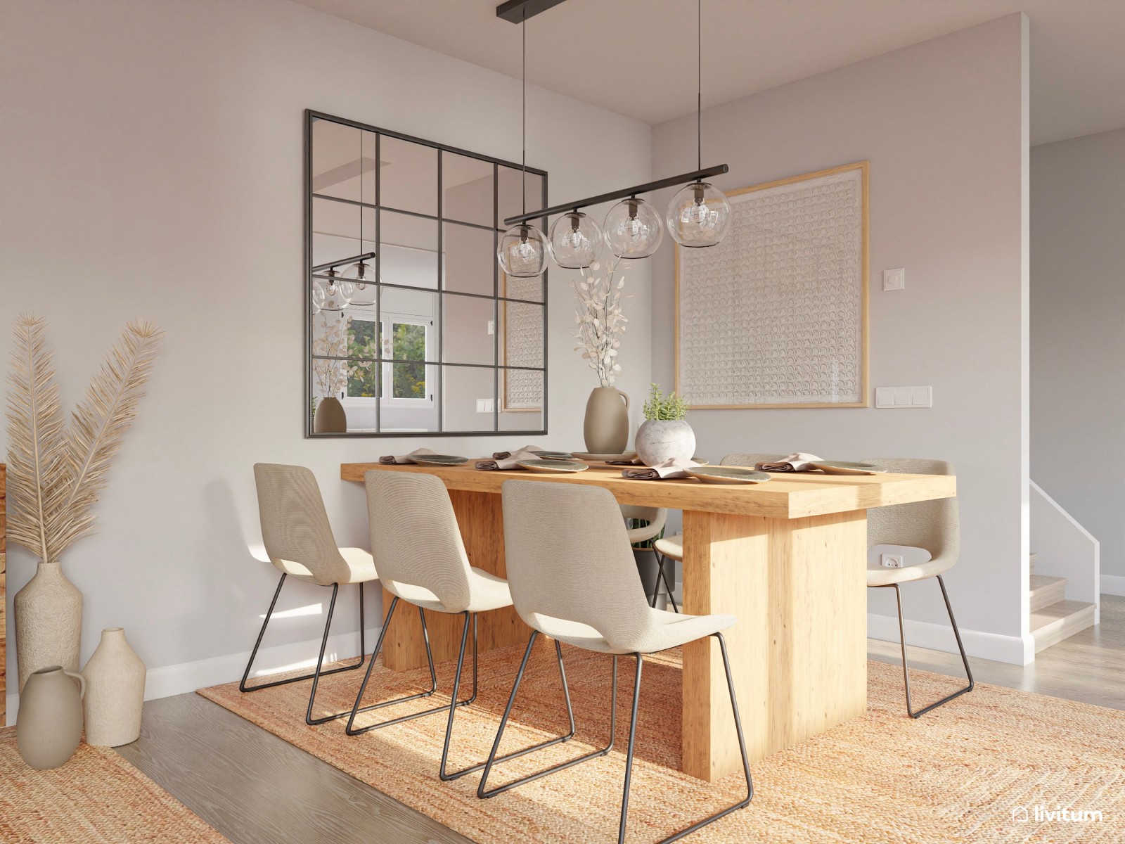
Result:
{"label": "far wooden table pedestal leg, shaded, seen between the chairs", "polygon": [[[507,576],[504,566],[504,513],[497,493],[450,490],[457,523],[461,529],[469,564],[490,574]],[[382,605],[390,605],[390,593],[382,591]],[[434,662],[456,659],[461,644],[460,616],[425,611],[426,629]],[[526,645],[531,628],[520,620],[511,607],[482,612],[478,650],[484,653],[508,645]],[[406,671],[426,664],[422,622],[417,610],[399,602],[390,630],[382,643],[382,664],[392,671]]]}

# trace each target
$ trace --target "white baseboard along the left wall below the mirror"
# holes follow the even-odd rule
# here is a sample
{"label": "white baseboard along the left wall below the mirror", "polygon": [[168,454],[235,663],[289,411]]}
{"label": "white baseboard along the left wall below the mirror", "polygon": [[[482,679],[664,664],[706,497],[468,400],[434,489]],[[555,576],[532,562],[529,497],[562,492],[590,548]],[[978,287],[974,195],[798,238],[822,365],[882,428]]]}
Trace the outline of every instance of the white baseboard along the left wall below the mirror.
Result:
{"label": "white baseboard along the left wall below the mirror", "polygon": [[[367,647],[374,648],[379,638],[380,628],[367,630]],[[294,641],[288,645],[274,645],[262,648],[254,659],[254,671],[250,675],[251,680],[264,674],[272,674],[278,671],[292,671],[294,668],[313,668],[316,665],[316,656],[321,650],[320,639],[307,641]],[[328,646],[324,652],[324,661],[331,662],[340,658],[356,656],[359,653],[359,632],[336,634],[328,637]],[[198,659],[192,663],[180,663],[179,665],[163,665],[159,668],[148,668],[145,677],[144,699],[154,700],[156,698],[169,698],[173,694],[194,692],[196,689],[204,689],[208,685],[219,685],[230,683],[233,680],[241,680],[242,672],[246,670],[246,661],[250,659],[250,650],[238,654],[227,654],[215,656],[210,659]],[[7,695],[7,720],[9,725],[16,722],[16,715],[19,711],[19,694]]]}

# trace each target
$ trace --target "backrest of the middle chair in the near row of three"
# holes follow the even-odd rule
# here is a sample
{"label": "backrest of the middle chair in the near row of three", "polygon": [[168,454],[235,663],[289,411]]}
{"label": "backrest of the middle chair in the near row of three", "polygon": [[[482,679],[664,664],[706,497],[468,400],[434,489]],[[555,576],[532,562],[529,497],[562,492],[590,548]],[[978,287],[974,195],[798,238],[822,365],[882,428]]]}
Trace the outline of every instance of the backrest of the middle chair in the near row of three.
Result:
{"label": "backrest of the middle chair in the near row of three", "polygon": [[[469,557],[449,492],[434,475],[372,469],[363,476],[379,580],[424,586],[450,612],[469,605]],[[388,581],[390,583],[388,583]]]}

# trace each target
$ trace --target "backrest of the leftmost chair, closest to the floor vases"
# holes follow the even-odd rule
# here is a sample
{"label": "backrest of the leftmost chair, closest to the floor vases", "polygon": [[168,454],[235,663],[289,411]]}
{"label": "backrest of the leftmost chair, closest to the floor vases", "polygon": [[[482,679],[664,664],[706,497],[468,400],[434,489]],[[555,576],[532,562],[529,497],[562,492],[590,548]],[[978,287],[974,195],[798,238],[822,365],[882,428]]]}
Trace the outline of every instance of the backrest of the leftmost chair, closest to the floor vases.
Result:
{"label": "backrest of the leftmost chair, closest to the floor vases", "polygon": [[262,542],[273,565],[290,560],[317,583],[346,583],[351,569],[340,556],[316,477],[304,466],[254,464]]}

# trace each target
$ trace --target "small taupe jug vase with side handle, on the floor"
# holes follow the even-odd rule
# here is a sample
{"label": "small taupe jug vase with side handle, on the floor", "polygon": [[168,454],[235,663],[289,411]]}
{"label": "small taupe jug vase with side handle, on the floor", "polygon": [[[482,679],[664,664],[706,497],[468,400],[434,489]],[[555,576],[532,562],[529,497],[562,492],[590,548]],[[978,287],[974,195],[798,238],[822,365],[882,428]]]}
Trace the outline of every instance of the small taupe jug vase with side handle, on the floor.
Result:
{"label": "small taupe jug vase with side handle, on the floor", "polygon": [[[79,685],[74,685],[74,680]],[[65,763],[82,738],[81,674],[48,665],[32,672],[19,695],[16,746],[24,761],[37,771]]]}

